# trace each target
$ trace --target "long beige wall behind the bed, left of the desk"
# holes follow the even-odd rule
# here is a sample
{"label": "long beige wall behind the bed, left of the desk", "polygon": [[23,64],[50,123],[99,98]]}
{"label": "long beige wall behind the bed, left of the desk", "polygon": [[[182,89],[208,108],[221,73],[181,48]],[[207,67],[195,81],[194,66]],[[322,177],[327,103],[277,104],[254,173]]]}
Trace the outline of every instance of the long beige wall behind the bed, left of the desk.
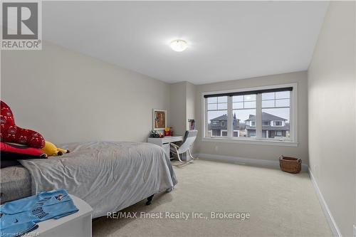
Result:
{"label": "long beige wall behind the bed, left of the desk", "polygon": [[17,125],[55,143],[144,142],[153,108],[168,110],[169,121],[168,83],[49,42],[1,51],[1,99]]}

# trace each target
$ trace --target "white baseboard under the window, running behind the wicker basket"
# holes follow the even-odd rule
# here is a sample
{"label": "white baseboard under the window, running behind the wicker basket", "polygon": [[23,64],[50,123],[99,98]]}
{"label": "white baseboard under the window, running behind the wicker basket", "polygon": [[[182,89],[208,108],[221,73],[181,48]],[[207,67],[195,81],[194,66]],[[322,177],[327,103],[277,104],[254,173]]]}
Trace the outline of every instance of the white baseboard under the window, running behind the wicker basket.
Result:
{"label": "white baseboard under the window, running behind the wicker basket", "polygon": [[[227,162],[232,164],[249,164],[249,165],[257,165],[260,167],[267,167],[273,169],[279,169],[279,161],[278,158],[273,160],[266,159],[253,159],[253,158],[243,158],[243,157],[229,157],[229,156],[221,156],[218,154],[194,154],[194,157],[199,157],[200,159],[211,160],[214,162]],[[302,170],[308,171],[308,165],[302,164]]]}

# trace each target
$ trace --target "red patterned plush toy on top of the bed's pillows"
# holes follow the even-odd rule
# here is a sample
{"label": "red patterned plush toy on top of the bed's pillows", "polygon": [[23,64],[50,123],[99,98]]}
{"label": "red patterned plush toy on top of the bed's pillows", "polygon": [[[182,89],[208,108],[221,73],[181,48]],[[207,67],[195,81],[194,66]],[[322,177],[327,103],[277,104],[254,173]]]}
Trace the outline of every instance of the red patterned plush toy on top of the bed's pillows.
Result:
{"label": "red patterned plush toy on top of the bed's pillows", "polygon": [[26,130],[15,125],[14,115],[5,102],[1,101],[1,142],[16,142],[26,144],[29,147],[43,148],[45,140],[42,135],[33,130]]}

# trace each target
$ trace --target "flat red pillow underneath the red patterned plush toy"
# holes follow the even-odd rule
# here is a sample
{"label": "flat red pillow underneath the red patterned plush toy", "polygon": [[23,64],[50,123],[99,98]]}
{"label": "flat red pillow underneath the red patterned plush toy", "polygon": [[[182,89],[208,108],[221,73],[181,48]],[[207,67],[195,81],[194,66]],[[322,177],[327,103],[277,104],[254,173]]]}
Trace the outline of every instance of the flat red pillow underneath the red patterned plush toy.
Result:
{"label": "flat red pillow underneath the red patterned plush toy", "polygon": [[41,149],[8,142],[0,142],[0,151],[1,160],[48,158],[47,154],[42,152]]}

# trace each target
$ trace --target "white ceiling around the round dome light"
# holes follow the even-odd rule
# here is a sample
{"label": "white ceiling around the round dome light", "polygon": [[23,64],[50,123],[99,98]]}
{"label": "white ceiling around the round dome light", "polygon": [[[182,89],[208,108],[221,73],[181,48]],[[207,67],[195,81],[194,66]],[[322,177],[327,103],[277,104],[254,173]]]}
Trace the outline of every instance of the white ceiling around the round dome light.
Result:
{"label": "white ceiling around the round dome light", "polygon": [[[194,84],[306,70],[328,2],[43,1],[43,39]],[[182,38],[177,53],[169,42]]]}

